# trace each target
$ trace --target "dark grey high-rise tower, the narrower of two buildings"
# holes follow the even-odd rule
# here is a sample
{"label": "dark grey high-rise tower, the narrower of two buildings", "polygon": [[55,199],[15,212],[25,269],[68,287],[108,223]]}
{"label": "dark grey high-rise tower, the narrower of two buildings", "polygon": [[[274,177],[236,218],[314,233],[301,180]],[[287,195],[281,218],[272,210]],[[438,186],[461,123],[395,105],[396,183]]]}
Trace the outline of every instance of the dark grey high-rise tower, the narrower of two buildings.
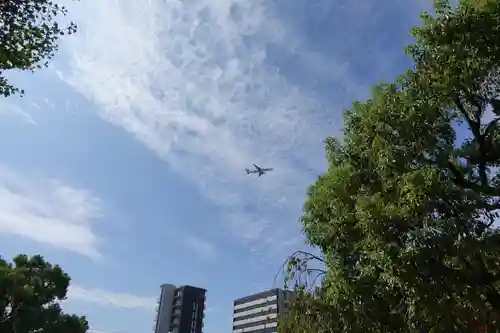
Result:
{"label": "dark grey high-rise tower, the narrower of two buildings", "polygon": [[206,290],[173,284],[160,288],[154,333],[201,333]]}

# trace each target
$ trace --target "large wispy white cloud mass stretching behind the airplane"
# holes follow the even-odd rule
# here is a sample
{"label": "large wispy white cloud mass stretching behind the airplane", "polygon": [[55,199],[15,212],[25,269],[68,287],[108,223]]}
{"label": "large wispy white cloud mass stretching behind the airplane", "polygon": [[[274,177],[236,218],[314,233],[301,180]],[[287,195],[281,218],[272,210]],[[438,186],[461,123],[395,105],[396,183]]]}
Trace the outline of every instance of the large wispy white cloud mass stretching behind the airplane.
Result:
{"label": "large wispy white cloud mass stretching behind the airplane", "polygon": [[[103,119],[193,181],[227,211],[228,228],[253,245],[297,235],[294,218],[306,186],[324,167],[321,141],[340,127],[338,105],[327,108],[313,89],[289,80],[269,58],[271,48],[329,76],[336,97],[357,95],[361,87],[348,58],[305,51],[307,43],[276,4],[80,2],[71,10],[80,31],[63,46],[69,64],[58,66],[60,77],[94,101]],[[315,10],[331,8],[332,1],[322,1]],[[357,4],[342,8],[356,22],[374,15]],[[352,44],[339,41],[337,55],[349,46],[340,42]],[[276,172],[246,177],[251,163]]]}

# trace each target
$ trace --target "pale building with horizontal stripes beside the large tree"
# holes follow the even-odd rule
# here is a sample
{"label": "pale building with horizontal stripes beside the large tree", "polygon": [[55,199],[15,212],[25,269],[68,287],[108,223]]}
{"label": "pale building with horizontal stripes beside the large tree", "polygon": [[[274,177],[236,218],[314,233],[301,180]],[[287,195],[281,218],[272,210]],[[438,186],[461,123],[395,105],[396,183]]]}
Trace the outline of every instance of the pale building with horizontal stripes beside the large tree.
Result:
{"label": "pale building with horizontal stripes beside the large tree", "polygon": [[275,333],[292,292],[279,288],[234,301],[233,333]]}

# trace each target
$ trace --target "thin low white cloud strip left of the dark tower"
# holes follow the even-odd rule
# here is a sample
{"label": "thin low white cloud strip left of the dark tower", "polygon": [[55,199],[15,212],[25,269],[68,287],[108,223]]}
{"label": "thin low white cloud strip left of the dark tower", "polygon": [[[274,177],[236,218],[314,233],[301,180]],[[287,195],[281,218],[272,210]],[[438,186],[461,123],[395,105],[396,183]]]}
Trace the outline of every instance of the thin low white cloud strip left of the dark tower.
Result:
{"label": "thin low white cloud strip left of the dark tower", "polygon": [[87,289],[78,285],[70,286],[67,296],[68,301],[84,301],[105,307],[143,310],[154,310],[157,301],[155,297],[115,293],[102,289]]}

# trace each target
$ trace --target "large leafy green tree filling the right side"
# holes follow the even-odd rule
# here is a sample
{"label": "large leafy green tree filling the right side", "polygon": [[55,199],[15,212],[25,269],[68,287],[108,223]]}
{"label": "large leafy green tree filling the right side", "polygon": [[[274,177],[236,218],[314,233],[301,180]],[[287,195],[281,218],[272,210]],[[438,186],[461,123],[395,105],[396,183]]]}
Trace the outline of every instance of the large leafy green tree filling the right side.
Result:
{"label": "large leafy green tree filling the right side", "polygon": [[323,279],[282,332],[500,331],[500,2],[439,1],[422,18],[414,68],[326,139],[302,217]]}

